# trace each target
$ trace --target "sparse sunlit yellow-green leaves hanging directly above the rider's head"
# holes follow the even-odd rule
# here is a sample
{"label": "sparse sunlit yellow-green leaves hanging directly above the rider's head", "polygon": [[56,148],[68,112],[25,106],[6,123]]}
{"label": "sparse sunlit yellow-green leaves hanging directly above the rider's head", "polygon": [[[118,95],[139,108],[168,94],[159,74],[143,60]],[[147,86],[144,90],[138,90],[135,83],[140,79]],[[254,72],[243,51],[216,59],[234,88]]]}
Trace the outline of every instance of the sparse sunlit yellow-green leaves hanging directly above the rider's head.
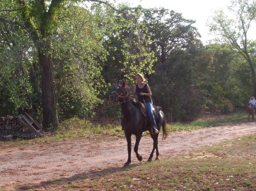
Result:
{"label": "sparse sunlit yellow-green leaves hanging directly above the rider's head", "polygon": [[106,34],[104,47],[109,55],[104,63],[104,77],[106,82],[117,83],[121,79],[134,82],[138,72],[152,73],[152,64],[155,61],[154,53],[150,48],[150,35],[141,22],[141,7],[131,9],[126,5],[118,7],[125,10],[125,15],[113,13],[111,24],[105,25]]}

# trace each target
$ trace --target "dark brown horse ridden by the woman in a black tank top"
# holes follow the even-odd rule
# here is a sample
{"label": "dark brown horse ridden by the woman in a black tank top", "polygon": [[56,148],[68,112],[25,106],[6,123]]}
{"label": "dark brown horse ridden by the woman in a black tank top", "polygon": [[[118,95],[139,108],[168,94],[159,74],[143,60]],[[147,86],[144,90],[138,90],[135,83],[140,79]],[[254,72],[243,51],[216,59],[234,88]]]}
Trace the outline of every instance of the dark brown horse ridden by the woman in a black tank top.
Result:
{"label": "dark brown horse ridden by the woman in a black tank top", "polygon": [[[147,159],[148,162],[152,161],[154,152],[156,150],[156,159],[159,160],[159,151],[158,151],[158,135],[153,135],[150,130],[151,125],[147,125],[148,123],[143,116],[141,109],[132,101],[127,94],[125,82],[123,82],[122,86],[118,86],[115,91],[109,96],[109,99],[113,103],[120,103],[121,104],[121,111],[122,111],[122,120],[121,125],[122,129],[125,131],[125,137],[127,141],[127,150],[128,150],[128,160],[125,163],[125,166],[131,163],[131,135],[135,135],[136,142],[134,146],[134,152],[137,156],[139,161],[142,161],[142,156],[138,153],[139,148],[139,141],[141,141],[143,131],[149,130],[151,138],[153,139],[153,148],[149,158]],[[162,126],[163,128],[163,137],[162,139],[167,138],[167,130],[166,130],[166,120],[164,118],[163,111],[159,111],[155,115],[156,125],[158,126],[158,130]]]}

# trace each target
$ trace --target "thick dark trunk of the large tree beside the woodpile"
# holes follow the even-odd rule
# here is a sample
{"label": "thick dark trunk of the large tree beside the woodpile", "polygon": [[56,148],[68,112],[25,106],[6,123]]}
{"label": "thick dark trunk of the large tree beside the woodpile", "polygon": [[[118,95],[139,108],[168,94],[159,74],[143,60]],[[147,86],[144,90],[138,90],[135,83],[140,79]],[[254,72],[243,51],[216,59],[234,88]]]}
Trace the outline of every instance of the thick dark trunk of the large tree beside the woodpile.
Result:
{"label": "thick dark trunk of the large tree beside the woodpile", "polygon": [[43,109],[43,130],[56,130],[58,126],[55,84],[53,82],[52,60],[45,52],[40,52],[39,63],[42,73],[42,109]]}

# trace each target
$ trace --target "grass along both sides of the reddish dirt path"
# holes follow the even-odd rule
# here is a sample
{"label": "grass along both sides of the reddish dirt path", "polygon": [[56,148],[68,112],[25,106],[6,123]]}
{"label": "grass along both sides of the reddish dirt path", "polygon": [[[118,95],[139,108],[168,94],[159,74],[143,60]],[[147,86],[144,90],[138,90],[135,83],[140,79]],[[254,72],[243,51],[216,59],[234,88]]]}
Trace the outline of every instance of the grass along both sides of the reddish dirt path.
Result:
{"label": "grass along both sides of the reddish dirt path", "polygon": [[[201,118],[187,124],[168,125],[170,131],[192,130],[207,126],[220,126],[247,122],[245,113]],[[123,138],[121,126],[99,125],[72,118],[61,122],[55,134],[31,140],[15,139],[7,145],[20,146],[40,142],[56,142],[73,138],[97,140]],[[21,190],[256,190],[256,135],[249,135],[204,147],[189,154],[151,163],[141,162],[127,168],[111,167],[93,176],[86,173],[67,180],[51,180],[43,187],[19,185]],[[17,183],[18,184],[18,183]],[[19,189],[17,189],[19,190]]]}

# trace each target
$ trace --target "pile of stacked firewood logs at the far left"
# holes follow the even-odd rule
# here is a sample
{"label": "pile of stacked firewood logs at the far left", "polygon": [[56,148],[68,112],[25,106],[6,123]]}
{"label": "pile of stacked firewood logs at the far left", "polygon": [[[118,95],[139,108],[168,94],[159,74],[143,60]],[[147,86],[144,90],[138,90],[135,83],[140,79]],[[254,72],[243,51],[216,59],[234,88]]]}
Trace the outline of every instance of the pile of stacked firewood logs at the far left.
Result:
{"label": "pile of stacked firewood logs at the far left", "polygon": [[15,134],[23,131],[20,116],[0,117],[0,133]]}

